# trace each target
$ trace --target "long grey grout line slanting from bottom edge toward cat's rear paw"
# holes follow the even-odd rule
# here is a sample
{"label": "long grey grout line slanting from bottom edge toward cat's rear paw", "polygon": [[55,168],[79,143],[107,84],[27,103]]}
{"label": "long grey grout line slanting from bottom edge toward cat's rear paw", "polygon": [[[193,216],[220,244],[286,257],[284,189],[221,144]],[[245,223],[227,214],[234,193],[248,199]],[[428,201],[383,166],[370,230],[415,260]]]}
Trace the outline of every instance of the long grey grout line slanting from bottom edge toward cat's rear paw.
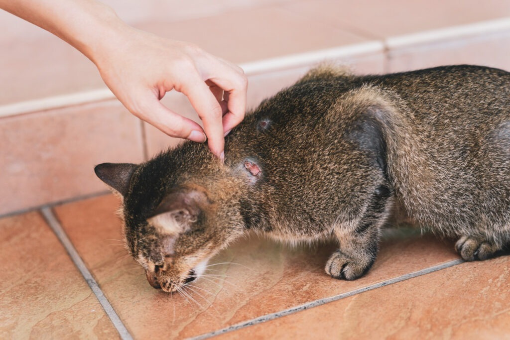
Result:
{"label": "long grey grout line slanting from bottom edge toward cat's rear paw", "polygon": [[443,263],[441,265],[429,267],[429,268],[422,269],[422,270],[419,270],[419,271],[416,271],[416,272],[413,272],[413,273],[409,273],[409,274],[401,275],[401,276],[398,276],[398,277],[394,277],[392,279],[381,281],[381,282],[378,282],[378,283],[375,283],[375,284],[371,284],[371,285],[368,285],[366,287],[363,287],[363,288],[360,288],[360,289],[356,289],[356,290],[353,290],[353,291],[350,291],[350,292],[342,293],[342,294],[331,296],[331,297],[324,298],[324,299],[318,299],[318,300],[315,300],[315,301],[312,301],[312,302],[304,303],[304,304],[296,306],[296,307],[292,307],[292,308],[285,309],[285,310],[282,310],[282,311],[278,311],[278,312],[275,312],[275,313],[270,313],[270,314],[261,316],[259,318],[255,318],[255,319],[248,320],[248,321],[243,321],[243,322],[240,322],[238,324],[235,324],[235,325],[232,325],[232,326],[229,326],[229,327],[225,327],[225,328],[216,330],[214,332],[210,332],[210,333],[201,334],[201,335],[198,335],[198,336],[195,336],[195,337],[191,337],[190,339],[192,339],[192,340],[207,339],[207,338],[210,338],[212,336],[217,336],[217,335],[220,335],[220,334],[224,334],[224,333],[227,333],[227,332],[232,332],[232,331],[235,331],[235,330],[238,330],[238,329],[241,329],[241,328],[245,328],[245,327],[248,327],[248,326],[257,325],[257,324],[260,324],[260,323],[263,323],[263,322],[266,322],[266,321],[270,321],[270,320],[273,320],[273,319],[285,317],[287,315],[296,313],[296,312],[301,311],[301,310],[305,310],[305,309],[310,309],[310,308],[313,308],[313,307],[321,306],[321,305],[329,303],[329,302],[333,302],[333,301],[337,301],[337,300],[340,300],[340,299],[344,299],[344,298],[347,298],[347,297],[350,297],[350,296],[353,296],[353,295],[356,295],[356,294],[361,294],[361,293],[364,293],[364,292],[368,292],[368,291],[371,291],[371,290],[374,290],[374,289],[377,289],[377,288],[380,288],[380,287],[384,287],[384,286],[389,285],[389,284],[393,284],[393,283],[409,280],[409,279],[412,279],[412,278],[415,278],[415,277],[418,277],[418,276],[421,276],[421,275],[433,273],[433,272],[436,272],[438,270],[442,270],[442,269],[445,269],[445,268],[453,267],[453,266],[456,266],[456,265],[459,265],[459,264],[462,264],[462,263],[464,263],[464,260],[461,259],[461,258],[460,259],[456,259],[456,260],[452,260],[452,261],[448,261],[448,262]]}

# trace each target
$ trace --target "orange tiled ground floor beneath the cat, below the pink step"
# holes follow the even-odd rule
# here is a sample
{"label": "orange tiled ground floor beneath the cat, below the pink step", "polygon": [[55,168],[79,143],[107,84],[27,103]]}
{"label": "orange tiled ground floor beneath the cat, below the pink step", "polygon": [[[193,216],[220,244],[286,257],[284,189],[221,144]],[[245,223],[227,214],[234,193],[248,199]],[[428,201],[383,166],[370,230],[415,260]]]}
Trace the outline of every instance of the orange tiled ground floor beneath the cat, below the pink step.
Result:
{"label": "orange tiled ground floor beneath the cat, below the pink step", "polygon": [[[122,246],[113,195],[53,214],[134,338],[503,338],[510,258],[462,263],[451,241],[388,230],[364,277],[323,272],[333,244],[290,248],[251,237],[217,255],[188,298],[149,286]],[[118,336],[37,212],[0,220],[0,338]],[[16,256],[13,256],[16,254]],[[30,265],[28,265],[30,263]],[[313,307],[313,308],[312,308]],[[262,322],[267,321],[267,322]]]}

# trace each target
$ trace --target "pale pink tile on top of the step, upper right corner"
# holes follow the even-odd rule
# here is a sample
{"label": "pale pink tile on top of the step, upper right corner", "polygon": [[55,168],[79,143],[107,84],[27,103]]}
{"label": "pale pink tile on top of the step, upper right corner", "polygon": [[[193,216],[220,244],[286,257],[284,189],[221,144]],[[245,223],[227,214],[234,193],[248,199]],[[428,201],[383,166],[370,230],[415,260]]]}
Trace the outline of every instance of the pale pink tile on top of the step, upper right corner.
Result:
{"label": "pale pink tile on top of the step, upper right corner", "polygon": [[476,0],[462,5],[442,0],[314,0],[282,7],[369,38],[389,38],[510,15],[510,3],[499,0],[486,1],[483,6]]}

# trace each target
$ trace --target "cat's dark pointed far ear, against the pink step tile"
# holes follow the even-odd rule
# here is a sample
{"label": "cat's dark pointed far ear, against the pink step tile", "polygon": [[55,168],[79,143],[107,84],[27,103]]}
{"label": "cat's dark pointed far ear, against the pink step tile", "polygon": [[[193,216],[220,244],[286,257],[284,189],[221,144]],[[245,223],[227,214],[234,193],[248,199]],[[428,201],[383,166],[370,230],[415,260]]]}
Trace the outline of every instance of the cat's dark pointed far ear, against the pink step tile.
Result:
{"label": "cat's dark pointed far ear, against the pink step tile", "polygon": [[137,167],[132,163],[103,163],[97,165],[94,172],[100,180],[125,196]]}

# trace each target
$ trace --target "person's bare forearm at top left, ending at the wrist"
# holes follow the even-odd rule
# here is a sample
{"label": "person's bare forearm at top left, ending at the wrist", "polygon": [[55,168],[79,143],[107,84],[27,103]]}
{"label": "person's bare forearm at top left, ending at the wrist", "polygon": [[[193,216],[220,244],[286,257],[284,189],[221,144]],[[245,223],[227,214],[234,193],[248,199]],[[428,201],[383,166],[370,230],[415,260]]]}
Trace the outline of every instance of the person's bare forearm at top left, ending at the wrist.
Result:
{"label": "person's bare forearm at top left, ending at the wrist", "polygon": [[0,8],[68,42],[97,64],[112,35],[126,24],[95,0],[0,0]]}

